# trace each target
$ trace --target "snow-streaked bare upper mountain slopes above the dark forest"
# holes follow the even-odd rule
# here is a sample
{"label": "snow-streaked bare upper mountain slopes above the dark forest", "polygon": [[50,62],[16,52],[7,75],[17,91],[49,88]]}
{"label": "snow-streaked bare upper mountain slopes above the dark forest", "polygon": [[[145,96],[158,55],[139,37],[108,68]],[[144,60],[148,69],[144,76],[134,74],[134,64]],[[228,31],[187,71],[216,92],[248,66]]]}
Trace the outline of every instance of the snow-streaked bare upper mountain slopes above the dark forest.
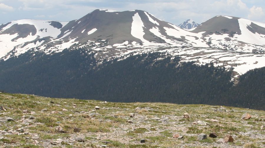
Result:
{"label": "snow-streaked bare upper mountain slopes above the dark forest", "polygon": [[141,10],[97,9],[69,22],[19,20],[0,26],[1,59],[65,48],[92,49],[99,63],[132,53],[168,52],[183,61],[233,66],[242,74],[265,66],[265,24],[216,16],[185,30]]}

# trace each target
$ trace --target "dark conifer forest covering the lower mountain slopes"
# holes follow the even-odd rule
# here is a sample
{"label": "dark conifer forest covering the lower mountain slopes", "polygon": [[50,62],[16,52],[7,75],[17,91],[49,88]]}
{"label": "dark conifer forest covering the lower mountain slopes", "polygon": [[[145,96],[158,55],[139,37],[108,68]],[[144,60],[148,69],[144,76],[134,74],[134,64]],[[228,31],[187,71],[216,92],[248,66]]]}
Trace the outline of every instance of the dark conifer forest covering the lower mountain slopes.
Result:
{"label": "dark conifer forest covering the lower mountain slopes", "polygon": [[[96,65],[86,49],[46,55],[27,52],[0,61],[0,90],[47,97],[113,102],[209,104],[265,110],[265,68],[250,70],[239,83],[232,68],[180,63],[167,53],[131,55]],[[163,58],[163,60],[156,60]]]}

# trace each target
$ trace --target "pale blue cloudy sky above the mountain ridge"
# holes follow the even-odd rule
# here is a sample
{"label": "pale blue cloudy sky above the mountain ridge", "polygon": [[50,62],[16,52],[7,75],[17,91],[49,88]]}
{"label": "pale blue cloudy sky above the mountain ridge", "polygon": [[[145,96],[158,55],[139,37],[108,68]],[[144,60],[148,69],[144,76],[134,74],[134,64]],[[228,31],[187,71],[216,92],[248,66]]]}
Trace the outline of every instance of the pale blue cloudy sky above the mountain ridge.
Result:
{"label": "pale blue cloudy sky above the mountain ridge", "polygon": [[144,10],[178,25],[202,23],[217,15],[265,23],[264,0],[0,0],[0,24],[19,19],[71,21],[95,9]]}

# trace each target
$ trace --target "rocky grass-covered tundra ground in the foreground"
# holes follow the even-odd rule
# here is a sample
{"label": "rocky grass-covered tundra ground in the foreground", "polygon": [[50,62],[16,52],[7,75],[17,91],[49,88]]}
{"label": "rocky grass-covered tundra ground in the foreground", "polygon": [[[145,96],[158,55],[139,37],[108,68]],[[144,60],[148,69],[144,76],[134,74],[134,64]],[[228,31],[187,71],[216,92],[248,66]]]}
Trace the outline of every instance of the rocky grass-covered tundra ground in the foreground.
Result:
{"label": "rocky grass-covered tundra ground in the foreground", "polygon": [[0,147],[265,147],[264,111],[0,92]]}

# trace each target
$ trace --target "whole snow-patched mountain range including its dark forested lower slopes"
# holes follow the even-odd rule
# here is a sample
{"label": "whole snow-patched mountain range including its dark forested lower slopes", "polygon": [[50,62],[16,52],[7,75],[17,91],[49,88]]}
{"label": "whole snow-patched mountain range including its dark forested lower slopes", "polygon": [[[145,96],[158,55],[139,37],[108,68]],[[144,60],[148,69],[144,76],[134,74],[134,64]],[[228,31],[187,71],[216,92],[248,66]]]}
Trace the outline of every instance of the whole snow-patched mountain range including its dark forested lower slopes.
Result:
{"label": "whole snow-patched mountain range including its dark forested lower slopes", "polygon": [[264,23],[231,16],[190,30],[141,10],[11,21],[0,26],[0,90],[264,109],[265,82],[254,81],[264,73],[264,43]]}

